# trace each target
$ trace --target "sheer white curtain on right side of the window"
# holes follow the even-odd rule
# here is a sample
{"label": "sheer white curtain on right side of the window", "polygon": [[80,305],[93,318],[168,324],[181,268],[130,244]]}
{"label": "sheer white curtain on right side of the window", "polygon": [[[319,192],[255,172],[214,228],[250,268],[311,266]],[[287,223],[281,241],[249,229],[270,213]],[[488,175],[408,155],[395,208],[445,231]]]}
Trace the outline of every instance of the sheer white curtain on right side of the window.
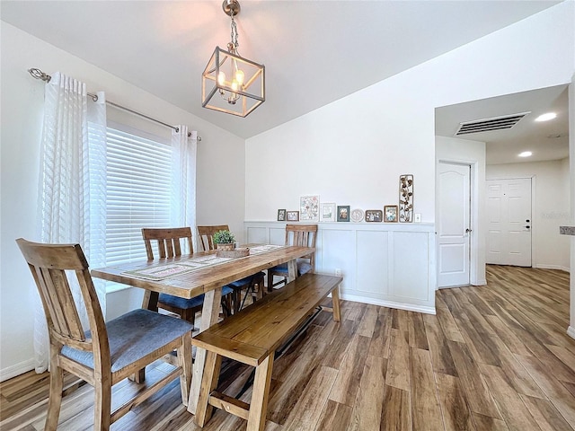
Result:
{"label": "sheer white curtain on right side of the window", "polygon": [[[196,232],[196,154],[198,132],[177,126],[172,132],[172,225],[190,226]],[[194,250],[196,235],[192,235]]]}

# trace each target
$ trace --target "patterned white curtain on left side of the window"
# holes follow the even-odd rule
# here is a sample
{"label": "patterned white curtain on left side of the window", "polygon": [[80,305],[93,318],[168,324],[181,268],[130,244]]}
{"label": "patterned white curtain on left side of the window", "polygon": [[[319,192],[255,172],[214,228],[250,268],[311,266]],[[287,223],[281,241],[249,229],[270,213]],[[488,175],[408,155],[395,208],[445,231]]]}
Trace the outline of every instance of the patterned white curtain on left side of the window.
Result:
{"label": "patterned white curtain on left side of the window", "polygon": [[[99,259],[103,247],[99,242],[105,229],[105,224],[99,224],[102,210],[105,217],[105,207],[98,207],[101,198],[93,196],[102,190],[103,179],[105,201],[106,108],[103,93],[99,95],[97,103],[88,102],[86,84],[59,72],[46,84],[38,205],[40,242],[78,242],[93,268],[103,264]],[[93,104],[90,110],[88,103]],[[102,151],[103,159],[99,154]],[[96,287],[105,315],[104,286]],[[79,286],[72,289],[85,325]],[[40,297],[36,306],[34,350],[36,372],[42,373],[49,365],[49,337]]]}

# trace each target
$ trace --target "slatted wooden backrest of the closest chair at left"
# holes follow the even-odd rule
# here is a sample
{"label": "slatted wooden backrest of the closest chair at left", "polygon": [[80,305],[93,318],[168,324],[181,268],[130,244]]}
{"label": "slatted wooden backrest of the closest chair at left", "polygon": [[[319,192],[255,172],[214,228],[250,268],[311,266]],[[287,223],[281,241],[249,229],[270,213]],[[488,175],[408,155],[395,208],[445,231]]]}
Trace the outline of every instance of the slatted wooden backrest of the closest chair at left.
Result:
{"label": "slatted wooden backrest of the closest chair at left", "polygon": [[[107,359],[104,358],[103,361],[109,364],[110,347],[106,325],[88,262],[80,244],[42,244],[22,238],[16,242],[28,262],[38,287],[48,321],[50,343],[92,351],[94,369],[102,364],[100,356],[106,356]],[[84,335],[74,295],[70,289],[70,284],[76,280],[84,299],[92,339]]]}

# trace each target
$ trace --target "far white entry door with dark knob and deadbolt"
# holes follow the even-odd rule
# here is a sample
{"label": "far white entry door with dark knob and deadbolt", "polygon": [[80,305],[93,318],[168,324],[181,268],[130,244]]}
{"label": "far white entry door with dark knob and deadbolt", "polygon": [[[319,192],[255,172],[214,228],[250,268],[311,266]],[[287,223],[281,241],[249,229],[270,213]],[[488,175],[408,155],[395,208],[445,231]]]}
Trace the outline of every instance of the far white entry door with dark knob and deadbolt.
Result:
{"label": "far white entry door with dark knob and deadbolt", "polygon": [[531,266],[531,179],[487,180],[487,256],[497,265]]}

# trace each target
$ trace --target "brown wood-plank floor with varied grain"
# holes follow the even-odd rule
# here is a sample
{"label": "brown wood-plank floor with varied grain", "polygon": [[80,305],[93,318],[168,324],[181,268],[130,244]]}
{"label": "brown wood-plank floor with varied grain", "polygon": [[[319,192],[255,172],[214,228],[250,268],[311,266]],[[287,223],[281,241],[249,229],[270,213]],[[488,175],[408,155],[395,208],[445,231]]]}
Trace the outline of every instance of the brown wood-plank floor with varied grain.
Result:
{"label": "brown wood-plank floor with varied grain", "polygon": [[[266,430],[575,430],[569,274],[487,270],[487,286],[438,291],[436,316],[345,301],[340,324],[323,312],[274,366]],[[169,367],[152,365],[146,378]],[[229,364],[219,391],[238,393],[250,371]],[[47,376],[0,384],[0,429],[43,429]],[[137,390],[121,383],[114,400]],[[58,429],[92,423],[93,390],[84,385],[65,397]],[[174,382],[112,429],[202,428]],[[245,421],[218,410],[203,429],[242,430]]]}

